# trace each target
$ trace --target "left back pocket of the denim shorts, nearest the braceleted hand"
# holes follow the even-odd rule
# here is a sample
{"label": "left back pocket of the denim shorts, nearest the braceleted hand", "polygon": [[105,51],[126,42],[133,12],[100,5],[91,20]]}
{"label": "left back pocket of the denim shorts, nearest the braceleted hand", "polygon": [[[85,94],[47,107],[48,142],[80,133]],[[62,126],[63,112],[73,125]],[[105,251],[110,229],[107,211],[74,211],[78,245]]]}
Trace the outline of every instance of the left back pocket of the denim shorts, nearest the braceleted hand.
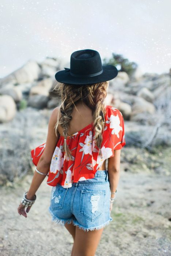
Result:
{"label": "left back pocket of the denim shorts, nearest the braceleted hand", "polygon": [[62,209],[64,204],[65,195],[68,188],[63,188],[60,185],[56,185],[56,189],[52,190],[51,206],[52,210]]}

